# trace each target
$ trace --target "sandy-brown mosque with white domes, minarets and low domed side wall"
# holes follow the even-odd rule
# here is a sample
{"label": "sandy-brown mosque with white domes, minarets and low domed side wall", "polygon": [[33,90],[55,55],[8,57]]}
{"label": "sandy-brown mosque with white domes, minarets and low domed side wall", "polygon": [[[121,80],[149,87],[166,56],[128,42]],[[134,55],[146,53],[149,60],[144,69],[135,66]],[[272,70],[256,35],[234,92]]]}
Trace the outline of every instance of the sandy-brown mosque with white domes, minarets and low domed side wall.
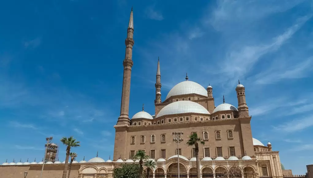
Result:
{"label": "sandy-brown mosque with white domes, minarets and low domed side wall", "polygon": [[[111,178],[114,167],[139,162],[133,160],[138,150],[145,150],[156,168],[150,170],[153,178],[197,177],[194,148],[186,144],[188,135],[196,132],[205,144],[199,147],[202,178],[218,178],[230,167],[236,167],[236,177],[295,177],[291,170],[285,170],[280,162],[279,151],[272,150],[272,144],[264,145],[254,139],[251,133],[251,116],[246,102],[245,87],[240,82],[234,86],[238,107],[232,104],[214,102],[213,87],[186,81],[175,85],[162,101],[160,61],[156,70],[155,113],[144,111],[129,117],[131,68],[133,66],[133,11],[131,10],[127,29],[126,54],[123,60],[124,76],[121,97],[121,113],[115,128],[113,159],[107,161],[98,157],[74,161],[70,178]],[[217,105],[217,106],[216,106]],[[181,143],[173,140],[176,133]],[[179,166],[178,161],[179,159]],[[46,162],[43,177],[62,177],[65,162]],[[11,163],[0,166],[0,178],[37,178],[43,161]],[[146,170],[145,170],[146,172]]]}

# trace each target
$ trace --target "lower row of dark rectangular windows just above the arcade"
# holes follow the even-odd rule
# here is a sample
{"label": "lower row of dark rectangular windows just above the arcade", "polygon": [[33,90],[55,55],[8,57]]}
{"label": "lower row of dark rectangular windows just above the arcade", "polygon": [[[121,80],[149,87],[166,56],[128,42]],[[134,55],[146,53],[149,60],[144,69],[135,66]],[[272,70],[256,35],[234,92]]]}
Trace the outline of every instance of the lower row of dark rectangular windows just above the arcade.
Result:
{"label": "lower row of dark rectangular windows just above the arcade", "polygon": [[[146,151],[146,150],[144,150]],[[235,156],[235,147],[230,146],[228,147],[228,151],[229,151],[229,157],[230,156]],[[175,149],[175,153],[182,155],[182,149]],[[216,153],[216,157],[221,156],[223,157],[223,151],[222,151],[222,147],[216,147],[215,148],[215,153]],[[135,150],[131,150],[130,154],[129,154],[129,159],[134,159],[135,156]],[[191,149],[191,157],[196,157],[196,153],[195,153],[195,148]],[[205,147],[203,148],[203,157],[210,157],[210,147]],[[155,149],[151,149],[150,150],[150,158],[151,159],[156,159],[156,150]],[[161,149],[160,150],[160,158],[163,159],[167,159],[166,157],[166,149]]]}

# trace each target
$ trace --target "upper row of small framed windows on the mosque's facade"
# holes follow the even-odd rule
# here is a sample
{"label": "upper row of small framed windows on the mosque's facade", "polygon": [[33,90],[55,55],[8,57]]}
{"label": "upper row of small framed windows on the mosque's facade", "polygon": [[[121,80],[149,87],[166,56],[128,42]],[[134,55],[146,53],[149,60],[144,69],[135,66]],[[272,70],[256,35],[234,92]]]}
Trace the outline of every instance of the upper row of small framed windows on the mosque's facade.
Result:
{"label": "upper row of small framed windows on the mosque's facade", "polygon": [[[191,134],[193,134],[195,132],[192,132]],[[208,140],[209,139],[209,133],[208,131],[203,131],[203,140]],[[161,142],[165,142],[165,135],[166,134],[161,134]],[[135,144],[135,138],[136,136],[131,136],[131,144]],[[233,130],[227,130],[227,138],[228,139],[233,139]],[[215,131],[215,139],[222,139],[221,137],[221,131],[220,130],[216,130]],[[150,143],[155,143],[156,142],[156,136],[155,135],[150,135]],[[146,135],[141,135],[140,136],[140,143],[146,143]]]}

